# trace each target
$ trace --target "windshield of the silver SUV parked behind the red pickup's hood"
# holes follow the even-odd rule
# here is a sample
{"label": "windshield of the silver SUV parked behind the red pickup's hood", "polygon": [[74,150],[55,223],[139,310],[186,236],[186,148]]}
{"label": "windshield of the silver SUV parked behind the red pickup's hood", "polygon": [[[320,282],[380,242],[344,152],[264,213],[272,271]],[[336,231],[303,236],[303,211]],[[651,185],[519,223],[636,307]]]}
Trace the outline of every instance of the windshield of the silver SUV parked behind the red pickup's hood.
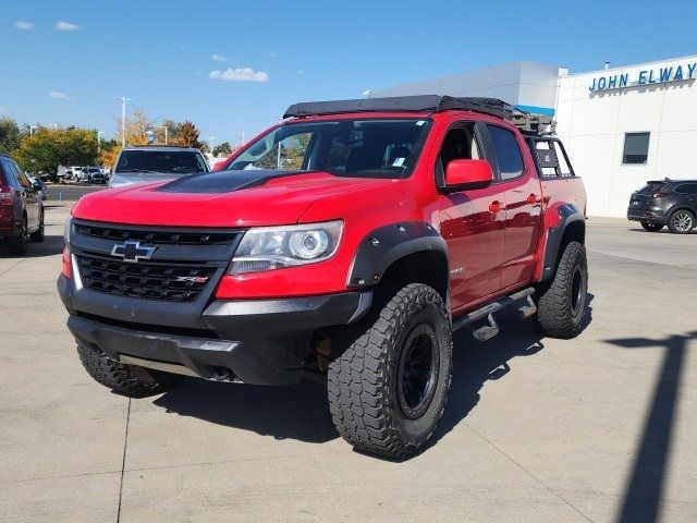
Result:
{"label": "windshield of the silver SUV parked behind the red pickup's hood", "polygon": [[192,174],[208,172],[201,156],[188,150],[124,150],[117,172],[163,172]]}

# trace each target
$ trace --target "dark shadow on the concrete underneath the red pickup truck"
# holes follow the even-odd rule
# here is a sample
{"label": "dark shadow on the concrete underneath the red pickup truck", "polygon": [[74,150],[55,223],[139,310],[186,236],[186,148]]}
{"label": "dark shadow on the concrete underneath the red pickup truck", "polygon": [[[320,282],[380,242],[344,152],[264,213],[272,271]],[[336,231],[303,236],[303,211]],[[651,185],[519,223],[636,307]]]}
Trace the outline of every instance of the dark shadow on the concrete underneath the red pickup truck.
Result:
{"label": "dark shadow on the concrete underneath the red pickup truck", "polygon": [[[591,320],[588,294],[583,328]],[[428,449],[452,430],[479,402],[479,390],[489,380],[502,379],[509,362],[545,348],[542,335],[530,319],[511,311],[497,313],[501,333],[488,342],[476,341],[462,330],[454,336],[454,366],[447,413]],[[253,430],[277,439],[321,443],[339,437],[329,413],[325,386],[305,381],[285,387],[231,385],[187,378],[154,403],[168,412],[218,425]]]}

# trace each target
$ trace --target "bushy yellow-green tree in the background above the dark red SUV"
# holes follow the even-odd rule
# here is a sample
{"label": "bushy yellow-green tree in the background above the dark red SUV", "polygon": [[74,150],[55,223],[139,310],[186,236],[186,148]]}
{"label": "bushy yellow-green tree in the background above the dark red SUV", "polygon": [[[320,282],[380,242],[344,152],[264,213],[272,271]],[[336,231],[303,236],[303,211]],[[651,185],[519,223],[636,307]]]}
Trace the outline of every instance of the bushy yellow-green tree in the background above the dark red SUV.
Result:
{"label": "bushy yellow-green tree in the background above the dark red SUV", "polygon": [[27,172],[56,174],[58,166],[90,166],[97,162],[96,131],[91,129],[39,127],[24,135],[14,157]]}

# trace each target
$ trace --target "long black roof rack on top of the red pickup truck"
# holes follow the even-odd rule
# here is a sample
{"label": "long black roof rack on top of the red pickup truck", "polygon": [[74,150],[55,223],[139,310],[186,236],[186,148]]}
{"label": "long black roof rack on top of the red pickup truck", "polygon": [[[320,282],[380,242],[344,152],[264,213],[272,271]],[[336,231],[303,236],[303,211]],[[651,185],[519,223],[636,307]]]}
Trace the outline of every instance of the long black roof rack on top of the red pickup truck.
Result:
{"label": "long black roof rack on top of the red pickup truck", "polygon": [[354,100],[305,101],[293,104],[283,118],[304,118],[346,112],[442,112],[464,110],[490,114],[508,120],[523,132],[552,134],[550,117],[530,114],[498,98],[453,97],[440,95],[394,96]]}

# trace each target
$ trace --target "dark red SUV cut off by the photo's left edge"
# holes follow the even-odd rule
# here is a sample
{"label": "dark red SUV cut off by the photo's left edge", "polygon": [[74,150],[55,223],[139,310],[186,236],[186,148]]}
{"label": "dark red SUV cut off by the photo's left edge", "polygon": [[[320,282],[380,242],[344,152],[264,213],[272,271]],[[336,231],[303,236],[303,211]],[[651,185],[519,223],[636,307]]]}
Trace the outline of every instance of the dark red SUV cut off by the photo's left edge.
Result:
{"label": "dark red SUV cut off by the photo's left edge", "polygon": [[0,154],[0,240],[13,254],[27,252],[29,241],[44,241],[44,204],[20,166]]}

